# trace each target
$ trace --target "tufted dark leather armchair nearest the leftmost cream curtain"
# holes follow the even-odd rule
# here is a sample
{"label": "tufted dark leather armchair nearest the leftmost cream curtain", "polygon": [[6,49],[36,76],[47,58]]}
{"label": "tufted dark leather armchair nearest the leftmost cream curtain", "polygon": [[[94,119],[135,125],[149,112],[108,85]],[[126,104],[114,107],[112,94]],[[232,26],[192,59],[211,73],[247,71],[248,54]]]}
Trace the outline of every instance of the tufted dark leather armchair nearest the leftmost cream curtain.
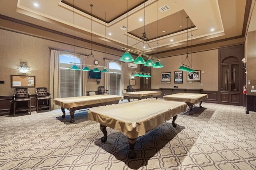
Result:
{"label": "tufted dark leather armchair nearest the leftmost cream curtain", "polygon": [[[44,101],[46,103],[44,103]],[[42,101],[42,103],[40,103]],[[38,104],[40,103],[40,105]],[[46,87],[38,87],[36,88],[36,113],[38,113],[38,109],[49,108],[51,110],[51,94],[48,93]]]}

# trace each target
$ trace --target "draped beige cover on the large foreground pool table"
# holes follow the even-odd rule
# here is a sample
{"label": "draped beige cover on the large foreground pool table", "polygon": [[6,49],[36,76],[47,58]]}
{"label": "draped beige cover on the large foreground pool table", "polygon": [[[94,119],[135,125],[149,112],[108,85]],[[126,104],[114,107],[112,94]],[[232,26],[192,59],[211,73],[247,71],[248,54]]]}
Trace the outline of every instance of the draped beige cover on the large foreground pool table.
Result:
{"label": "draped beige cover on the large foreground pool table", "polygon": [[92,108],[88,111],[88,118],[122,132],[128,138],[137,138],[186,108],[184,102],[146,99]]}

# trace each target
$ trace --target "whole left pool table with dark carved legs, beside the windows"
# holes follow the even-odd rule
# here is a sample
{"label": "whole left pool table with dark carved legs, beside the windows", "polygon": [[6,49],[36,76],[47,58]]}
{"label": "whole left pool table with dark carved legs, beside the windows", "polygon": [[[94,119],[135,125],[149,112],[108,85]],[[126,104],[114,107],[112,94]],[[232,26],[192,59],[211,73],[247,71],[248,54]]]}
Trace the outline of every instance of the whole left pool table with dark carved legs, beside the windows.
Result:
{"label": "whole left pool table with dark carved legs, beside the windows", "polygon": [[74,113],[76,110],[118,104],[119,101],[123,99],[123,96],[118,95],[92,95],[81,97],[56,98],[53,101],[55,105],[61,107],[63,118],[66,116],[65,109],[68,109],[70,111],[70,123],[74,123]]}

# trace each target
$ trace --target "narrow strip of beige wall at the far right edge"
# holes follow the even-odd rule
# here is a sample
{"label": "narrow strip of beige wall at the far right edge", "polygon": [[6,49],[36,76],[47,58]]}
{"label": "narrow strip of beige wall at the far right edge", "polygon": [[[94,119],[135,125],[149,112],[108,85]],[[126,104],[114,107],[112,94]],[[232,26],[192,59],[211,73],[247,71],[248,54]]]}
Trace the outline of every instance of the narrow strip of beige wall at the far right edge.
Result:
{"label": "narrow strip of beige wall at the far right edge", "polygon": [[[247,95],[256,95],[255,92],[251,92],[252,86],[254,86],[254,90],[256,90],[256,31],[248,32],[247,41],[245,46],[246,51],[246,77],[247,77]],[[248,80],[251,81],[251,84],[248,84]]]}

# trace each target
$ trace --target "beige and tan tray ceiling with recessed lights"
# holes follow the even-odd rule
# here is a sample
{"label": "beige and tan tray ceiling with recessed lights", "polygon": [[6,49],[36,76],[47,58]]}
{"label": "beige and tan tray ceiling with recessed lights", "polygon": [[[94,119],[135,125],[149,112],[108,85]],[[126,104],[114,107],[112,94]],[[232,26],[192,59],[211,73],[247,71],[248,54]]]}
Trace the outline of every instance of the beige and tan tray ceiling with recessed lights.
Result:
{"label": "beige and tan tray ceiling with recessed lights", "polygon": [[[246,30],[256,30],[255,0],[128,0],[128,6],[126,0],[66,0],[65,3],[61,0],[0,0],[0,18],[28,22],[116,49],[128,46],[142,52],[158,51],[162,53],[160,57],[190,45],[194,50],[204,50],[203,46],[209,49],[244,43]],[[158,8],[164,5],[170,10],[160,12]],[[189,22],[184,19],[186,16]],[[189,28],[193,25],[194,28]],[[122,26],[128,26],[128,30],[120,29]],[[10,29],[3,22],[0,28]],[[146,37],[152,39],[149,45],[141,40],[144,31]],[[193,36],[188,38],[190,34]]]}

